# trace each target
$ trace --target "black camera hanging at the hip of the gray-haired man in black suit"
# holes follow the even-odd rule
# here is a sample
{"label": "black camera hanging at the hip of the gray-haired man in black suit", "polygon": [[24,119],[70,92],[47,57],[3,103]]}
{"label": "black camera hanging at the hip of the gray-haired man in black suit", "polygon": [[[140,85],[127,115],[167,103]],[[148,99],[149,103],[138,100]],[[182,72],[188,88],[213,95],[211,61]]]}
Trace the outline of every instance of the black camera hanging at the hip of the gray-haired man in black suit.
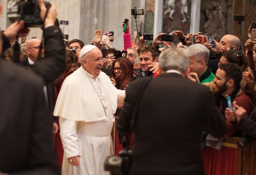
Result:
{"label": "black camera hanging at the hip of the gray-haired man in black suit", "polygon": [[119,156],[108,156],[104,162],[104,170],[110,175],[128,175],[132,163],[132,150],[119,151]]}

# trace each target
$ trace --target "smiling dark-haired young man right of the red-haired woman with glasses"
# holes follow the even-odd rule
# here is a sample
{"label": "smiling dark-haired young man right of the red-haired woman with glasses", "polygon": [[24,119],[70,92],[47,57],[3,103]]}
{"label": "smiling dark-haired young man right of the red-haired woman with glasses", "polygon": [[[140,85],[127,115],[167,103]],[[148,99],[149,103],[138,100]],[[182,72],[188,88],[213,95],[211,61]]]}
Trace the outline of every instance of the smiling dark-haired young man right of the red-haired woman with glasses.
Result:
{"label": "smiling dark-haired young man right of the red-haired woman with glasses", "polygon": [[151,68],[147,67],[148,65],[151,65],[151,62],[157,62],[158,61],[158,51],[153,46],[144,46],[140,50],[139,54],[139,65],[140,69],[137,71],[138,78],[144,77],[144,76],[151,76],[153,77],[153,73],[149,71]]}

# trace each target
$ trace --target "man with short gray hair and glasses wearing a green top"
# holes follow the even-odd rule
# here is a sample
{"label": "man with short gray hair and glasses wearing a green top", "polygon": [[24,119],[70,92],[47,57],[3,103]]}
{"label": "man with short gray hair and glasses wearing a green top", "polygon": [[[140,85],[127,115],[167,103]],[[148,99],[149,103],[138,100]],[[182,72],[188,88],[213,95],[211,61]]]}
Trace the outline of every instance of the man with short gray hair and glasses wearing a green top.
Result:
{"label": "man with short gray hair and glasses wearing a green top", "polygon": [[189,55],[190,72],[197,73],[200,83],[213,81],[215,76],[207,66],[210,50],[204,45],[193,44],[185,49],[185,51]]}

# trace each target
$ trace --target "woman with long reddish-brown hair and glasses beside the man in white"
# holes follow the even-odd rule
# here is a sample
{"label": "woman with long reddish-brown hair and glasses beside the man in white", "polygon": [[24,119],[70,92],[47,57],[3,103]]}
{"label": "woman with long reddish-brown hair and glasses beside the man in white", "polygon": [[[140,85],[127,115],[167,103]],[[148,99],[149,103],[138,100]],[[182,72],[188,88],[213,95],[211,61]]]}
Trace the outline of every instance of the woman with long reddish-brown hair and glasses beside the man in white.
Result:
{"label": "woman with long reddish-brown hair and glasses beside the man in white", "polygon": [[112,77],[116,81],[117,89],[124,90],[127,84],[134,80],[133,64],[126,57],[113,62]]}

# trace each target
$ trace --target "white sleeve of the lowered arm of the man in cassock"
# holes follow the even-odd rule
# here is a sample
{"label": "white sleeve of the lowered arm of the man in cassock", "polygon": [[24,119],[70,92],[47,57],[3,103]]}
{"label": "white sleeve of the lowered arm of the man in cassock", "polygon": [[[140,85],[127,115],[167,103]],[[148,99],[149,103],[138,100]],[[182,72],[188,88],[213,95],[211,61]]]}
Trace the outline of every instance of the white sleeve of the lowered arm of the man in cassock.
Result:
{"label": "white sleeve of the lowered arm of the man in cassock", "polygon": [[67,158],[80,155],[78,139],[76,135],[76,126],[78,121],[71,121],[59,117],[60,137],[63,149]]}

